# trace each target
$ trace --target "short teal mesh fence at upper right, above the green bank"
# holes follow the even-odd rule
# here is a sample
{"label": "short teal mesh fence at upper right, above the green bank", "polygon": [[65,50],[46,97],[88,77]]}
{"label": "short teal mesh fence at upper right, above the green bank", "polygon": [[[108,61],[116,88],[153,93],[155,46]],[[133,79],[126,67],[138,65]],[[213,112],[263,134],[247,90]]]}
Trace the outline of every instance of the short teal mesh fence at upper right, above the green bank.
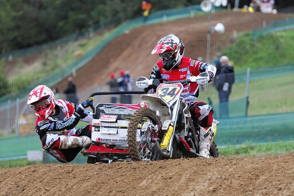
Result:
{"label": "short teal mesh fence at upper right, above the green bank", "polygon": [[255,40],[261,35],[266,35],[271,32],[286,30],[291,28],[294,28],[294,18],[290,18],[290,19],[286,19],[282,21],[275,21],[264,27],[254,29],[252,31],[252,38],[253,40]]}

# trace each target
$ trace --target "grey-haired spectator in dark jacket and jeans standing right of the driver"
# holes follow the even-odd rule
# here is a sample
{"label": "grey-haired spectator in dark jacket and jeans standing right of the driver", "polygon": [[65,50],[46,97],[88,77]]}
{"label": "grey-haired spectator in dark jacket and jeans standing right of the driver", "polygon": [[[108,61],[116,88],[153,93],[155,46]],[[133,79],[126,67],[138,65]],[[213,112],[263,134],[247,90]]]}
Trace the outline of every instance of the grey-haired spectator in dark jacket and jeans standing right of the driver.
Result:
{"label": "grey-haired spectator in dark jacket and jeans standing right of the driver", "polygon": [[220,102],[220,118],[229,117],[228,101],[231,94],[232,85],[235,82],[234,67],[229,65],[229,58],[227,56],[221,56],[221,72],[216,82],[216,87],[219,92]]}

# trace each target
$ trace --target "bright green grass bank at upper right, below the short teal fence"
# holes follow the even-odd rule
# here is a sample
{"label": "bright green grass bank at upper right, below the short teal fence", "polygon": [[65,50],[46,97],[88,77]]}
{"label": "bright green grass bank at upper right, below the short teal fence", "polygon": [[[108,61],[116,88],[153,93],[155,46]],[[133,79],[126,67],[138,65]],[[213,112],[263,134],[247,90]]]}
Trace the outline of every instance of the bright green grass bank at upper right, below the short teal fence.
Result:
{"label": "bright green grass bank at upper right, below the short teal fence", "polygon": [[221,54],[233,61],[235,71],[293,63],[294,29],[270,33],[256,40],[252,40],[251,32],[240,33],[232,47],[226,47]]}

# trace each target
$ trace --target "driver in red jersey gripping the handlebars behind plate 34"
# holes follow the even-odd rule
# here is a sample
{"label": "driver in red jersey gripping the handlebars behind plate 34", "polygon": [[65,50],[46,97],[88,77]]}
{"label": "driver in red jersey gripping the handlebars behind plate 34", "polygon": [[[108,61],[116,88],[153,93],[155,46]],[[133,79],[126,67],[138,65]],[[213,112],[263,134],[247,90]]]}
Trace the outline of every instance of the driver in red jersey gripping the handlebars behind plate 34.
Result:
{"label": "driver in red jersey gripping the handlebars behind plate 34", "polygon": [[[183,42],[175,35],[171,34],[162,38],[151,52],[152,54],[159,54],[161,60],[153,67],[150,79],[184,80],[189,79],[192,75],[197,76],[199,73],[208,72],[212,80],[217,68],[209,63],[184,57],[184,50]],[[145,89],[145,92],[153,93],[155,90],[155,86],[149,86]],[[209,158],[213,109],[204,102],[196,101],[198,95],[199,85],[197,83],[187,84],[181,94],[189,104],[192,118],[199,120],[199,154]]]}

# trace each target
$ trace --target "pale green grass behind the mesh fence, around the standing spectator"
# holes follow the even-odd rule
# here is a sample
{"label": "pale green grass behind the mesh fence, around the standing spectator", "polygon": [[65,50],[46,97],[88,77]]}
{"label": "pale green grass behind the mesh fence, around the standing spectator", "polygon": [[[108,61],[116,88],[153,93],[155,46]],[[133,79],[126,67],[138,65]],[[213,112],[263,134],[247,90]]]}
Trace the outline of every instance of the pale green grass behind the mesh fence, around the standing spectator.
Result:
{"label": "pale green grass behind the mesh fence, around the standing spectator", "polygon": [[[212,85],[206,88],[213,104],[217,104],[219,102],[217,90]],[[237,100],[245,96],[246,88],[243,88],[241,83],[235,83],[229,100]],[[198,100],[207,102],[205,92],[200,91]],[[293,74],[250,80],[249,116],[289,112],[294,112]]]}

